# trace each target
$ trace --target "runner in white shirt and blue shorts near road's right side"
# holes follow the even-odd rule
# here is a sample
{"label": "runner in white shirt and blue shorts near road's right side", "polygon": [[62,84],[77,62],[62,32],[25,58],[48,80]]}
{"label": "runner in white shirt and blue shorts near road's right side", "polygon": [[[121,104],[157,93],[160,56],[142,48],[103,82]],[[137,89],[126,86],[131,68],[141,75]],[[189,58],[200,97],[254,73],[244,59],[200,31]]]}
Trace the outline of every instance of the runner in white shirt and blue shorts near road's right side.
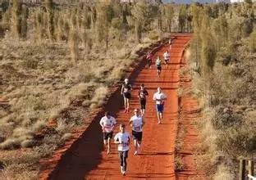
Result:
{"label": "runner in white shirt and blue shorts near road's right side", "polygon": [[161,124],[164,101],[167,100],[167,96],[162,93],[161,88],[158,87],[158,92],[153,94],[153,101],[156,101],[156,108],[158,113],[158,124]]}

